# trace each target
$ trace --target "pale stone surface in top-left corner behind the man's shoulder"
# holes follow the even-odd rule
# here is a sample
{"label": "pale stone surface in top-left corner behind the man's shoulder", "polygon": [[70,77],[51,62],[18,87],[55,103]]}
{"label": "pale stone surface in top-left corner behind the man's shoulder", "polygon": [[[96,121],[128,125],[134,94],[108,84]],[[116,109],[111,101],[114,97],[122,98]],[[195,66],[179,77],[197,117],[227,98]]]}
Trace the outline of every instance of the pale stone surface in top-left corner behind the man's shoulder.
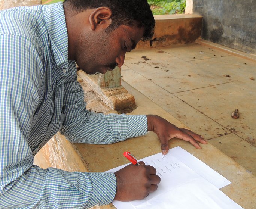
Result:
{"label": "pale stone surface in top-left corner behind the man's shoulder", "polygon": [[42,4],[42,0],[0,0],[0,10],[17,6],[34,6]]}

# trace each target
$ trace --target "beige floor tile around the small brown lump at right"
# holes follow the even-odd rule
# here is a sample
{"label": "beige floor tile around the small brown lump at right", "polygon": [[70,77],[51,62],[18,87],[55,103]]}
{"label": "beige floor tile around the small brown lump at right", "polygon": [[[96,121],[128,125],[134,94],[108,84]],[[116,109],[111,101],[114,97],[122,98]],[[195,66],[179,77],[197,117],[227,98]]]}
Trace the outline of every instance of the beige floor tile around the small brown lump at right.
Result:
{"label": "beige floor tile around the small brown lump at right", "polygon": [[[248,91],[238,84],[228,83],[174,95],[244,140],[250,140],[256,136],[255,94],[256,90]],[[231,118],[235,109],[240,112],[238,119]]]}

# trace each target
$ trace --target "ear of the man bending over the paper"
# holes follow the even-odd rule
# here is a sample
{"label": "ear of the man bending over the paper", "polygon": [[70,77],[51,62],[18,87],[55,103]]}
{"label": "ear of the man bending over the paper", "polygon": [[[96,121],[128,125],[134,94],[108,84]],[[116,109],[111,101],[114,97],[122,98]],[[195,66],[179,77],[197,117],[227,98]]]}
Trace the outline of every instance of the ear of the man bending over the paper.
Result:
{"label": "ear of the man bending over the paper", "polygon": [[99,7],[89,16],[91,29],[94,31],[98,26],[108,27],[111,24],[112,12],[109,7]]}

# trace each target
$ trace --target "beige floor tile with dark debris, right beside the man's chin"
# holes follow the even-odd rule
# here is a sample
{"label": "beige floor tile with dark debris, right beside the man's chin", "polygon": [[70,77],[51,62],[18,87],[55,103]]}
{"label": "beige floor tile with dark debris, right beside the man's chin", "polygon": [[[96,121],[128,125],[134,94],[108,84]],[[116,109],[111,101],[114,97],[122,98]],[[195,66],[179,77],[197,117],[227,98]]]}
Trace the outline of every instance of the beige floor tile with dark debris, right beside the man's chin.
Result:
{"label": "beige floor tile with dark debris, right beside the man's chin", "polygon": [[[204,69],[198,68],[198,66],[168,53],[159,53],[160,51],[150,49],[127,53],[122,70],[124,68],[133,69],[170,93],[230,82],[213,72],[204,72]],[[146,56],[150,60],[143,60],[142,56]]]}

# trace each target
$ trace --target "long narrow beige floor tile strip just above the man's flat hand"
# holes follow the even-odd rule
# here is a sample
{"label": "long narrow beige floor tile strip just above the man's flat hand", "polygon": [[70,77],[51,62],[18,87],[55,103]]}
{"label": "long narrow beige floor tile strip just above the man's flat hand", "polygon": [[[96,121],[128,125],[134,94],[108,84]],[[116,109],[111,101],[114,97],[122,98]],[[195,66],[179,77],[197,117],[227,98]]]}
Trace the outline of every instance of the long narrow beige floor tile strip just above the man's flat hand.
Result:
{"label": "long narrow beige floor tile strip just above the man's flat hand", "polygon": [[[122,71],[122,79],[143,93],[205,139],[230,131],[133,70]],[[195,122],[196,121],[196,122]]]}

